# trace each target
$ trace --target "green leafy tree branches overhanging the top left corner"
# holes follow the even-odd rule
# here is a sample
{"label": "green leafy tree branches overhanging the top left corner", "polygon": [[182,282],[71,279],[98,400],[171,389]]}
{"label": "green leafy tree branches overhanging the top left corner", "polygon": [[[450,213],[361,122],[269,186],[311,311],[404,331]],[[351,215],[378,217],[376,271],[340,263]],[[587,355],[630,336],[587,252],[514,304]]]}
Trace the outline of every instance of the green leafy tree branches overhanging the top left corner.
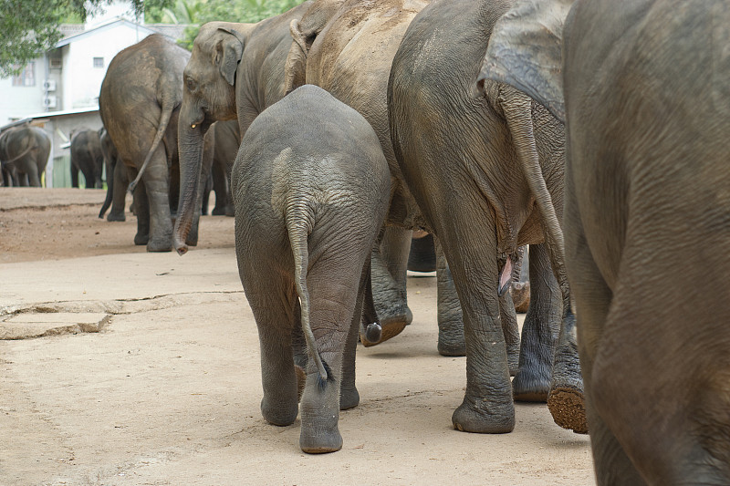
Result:
{"label": "green leafy tree branches overhanging the top left corner", "polygon": [[[174,0],[130,0],[137,13],[164,8]],[[84,22],[111,0],[0,0],[0,77],[19,72],[60,39],[58,26],[68,19]]]}

